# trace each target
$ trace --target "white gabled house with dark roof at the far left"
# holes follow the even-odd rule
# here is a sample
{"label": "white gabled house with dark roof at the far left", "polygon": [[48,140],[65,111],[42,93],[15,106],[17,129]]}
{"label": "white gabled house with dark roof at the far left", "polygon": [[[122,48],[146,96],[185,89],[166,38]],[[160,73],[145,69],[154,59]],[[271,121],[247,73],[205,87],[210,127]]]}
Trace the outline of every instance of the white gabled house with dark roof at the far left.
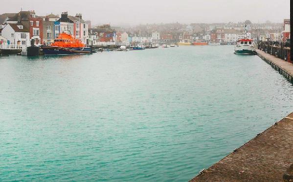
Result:
{"label": "white gabled house with dark roof at the far left", "polygon": [[29,30],[21,23],[8,23],[1,32],[1,36],[7,39],[7,44],[29,46]]}

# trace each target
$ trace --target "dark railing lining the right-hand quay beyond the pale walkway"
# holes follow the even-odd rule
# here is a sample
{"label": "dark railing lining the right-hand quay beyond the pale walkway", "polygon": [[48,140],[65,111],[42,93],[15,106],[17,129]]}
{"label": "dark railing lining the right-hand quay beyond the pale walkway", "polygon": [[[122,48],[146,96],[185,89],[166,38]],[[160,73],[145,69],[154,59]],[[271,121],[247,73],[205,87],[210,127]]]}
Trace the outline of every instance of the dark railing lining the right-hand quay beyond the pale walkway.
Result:
{"label": "dark railing lining the right-hand quay beyond the pale walkway", "polygon": [[290,61],[289,42],[259,41],[258,49],[285,61]]}

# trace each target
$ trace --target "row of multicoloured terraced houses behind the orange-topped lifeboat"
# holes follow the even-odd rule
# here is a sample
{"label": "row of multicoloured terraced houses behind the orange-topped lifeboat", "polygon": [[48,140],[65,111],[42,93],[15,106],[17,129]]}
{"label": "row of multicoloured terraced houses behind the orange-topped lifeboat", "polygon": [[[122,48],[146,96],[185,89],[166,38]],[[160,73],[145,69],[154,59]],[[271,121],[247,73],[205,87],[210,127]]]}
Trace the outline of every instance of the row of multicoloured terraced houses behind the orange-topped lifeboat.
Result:
{"label": "row of multicoloured terraced houses behind the orange-topped lifeboat", "polygon": [[0,44],[29,46],[34,40],[35,45],[49,44],[61,32],[71,34],[83,43],[89,44],[88,23],[81,14],[69,16],[67,12],[58,15],[37,16],[35,11],[20,11],[0,15]]}

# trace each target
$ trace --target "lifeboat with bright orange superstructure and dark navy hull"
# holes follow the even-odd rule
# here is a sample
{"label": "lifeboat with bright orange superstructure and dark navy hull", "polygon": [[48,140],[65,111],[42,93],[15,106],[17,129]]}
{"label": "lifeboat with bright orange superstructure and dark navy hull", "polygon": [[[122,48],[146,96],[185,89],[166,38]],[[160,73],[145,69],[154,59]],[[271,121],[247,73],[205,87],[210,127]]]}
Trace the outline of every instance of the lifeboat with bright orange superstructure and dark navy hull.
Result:
{"label": "lifeboat with bright orange superstructure and dark navy hull", "polygon": [[44,55],[90,54],[91,48],[86,47],[81,40],[73,38],[65,32],[54,39],[49,46],[42,46]]}

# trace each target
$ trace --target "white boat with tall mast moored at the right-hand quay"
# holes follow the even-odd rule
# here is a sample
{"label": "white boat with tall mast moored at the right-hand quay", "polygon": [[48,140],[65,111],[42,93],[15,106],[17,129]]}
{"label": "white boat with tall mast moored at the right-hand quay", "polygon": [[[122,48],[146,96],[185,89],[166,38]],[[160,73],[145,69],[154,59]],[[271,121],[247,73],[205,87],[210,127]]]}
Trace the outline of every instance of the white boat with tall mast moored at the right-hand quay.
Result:
{"label": "white boat with tall mast moored at the right-hand quay", "polygon": [[246,55],[255,55],[255,47],[254,42],[247,36],[247,30],[245,25],[245,37],[237,40],[236,45],[234,47],[235,54],[246,54]]}

